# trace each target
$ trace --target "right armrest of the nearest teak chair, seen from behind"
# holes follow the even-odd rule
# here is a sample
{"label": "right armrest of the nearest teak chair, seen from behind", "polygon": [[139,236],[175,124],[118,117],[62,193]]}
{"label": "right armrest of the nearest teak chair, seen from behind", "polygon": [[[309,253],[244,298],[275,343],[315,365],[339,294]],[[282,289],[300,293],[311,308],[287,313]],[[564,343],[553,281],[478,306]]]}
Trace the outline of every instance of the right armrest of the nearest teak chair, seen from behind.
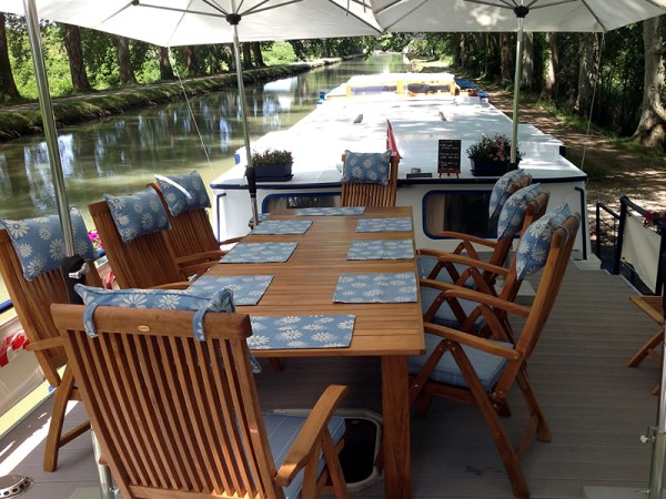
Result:
{"label": "right armrest of the nearest teak chair, seen from behind", "polygon": [[347,389],[346,386],[331,385],[324,390],[278,470],[275,481],[280,487],[287,487],[307,464],[312,452],[320,449],[322,432],[326,431],[329,420]]}

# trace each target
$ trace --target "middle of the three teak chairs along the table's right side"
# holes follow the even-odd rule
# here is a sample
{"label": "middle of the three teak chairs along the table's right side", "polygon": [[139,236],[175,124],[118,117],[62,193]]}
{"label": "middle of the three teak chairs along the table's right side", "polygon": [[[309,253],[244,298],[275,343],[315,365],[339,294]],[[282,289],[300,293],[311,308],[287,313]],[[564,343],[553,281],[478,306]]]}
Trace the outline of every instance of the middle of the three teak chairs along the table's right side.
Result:
{"label": "middle of the three teak chairs along the table's right side", "polygon": [[[531,183],[532,176],[527,174],[518,181],[512,183],[508,187],[508,192],[514,194],[521,189],[527,187]],[[482,284],[482,282],[476,278],[477,276],[474,275],[475,272],[473,267],[475,262],[482,261],[482,257],[478,255],[475,245],[487,248],[492,252],[487,263],[495,266],[505,265],[506,258],[514,242],[514,237],[522,234],[523,231],[528,227],[529,224],[532,224],[532,222],[537,220],[546,212],[548,206],[548,196],[549,195],[547,193],[544,193],[537,197],[539,201],[538,205],[532,205],[529,212],[525,214],[523,226],[518,232],[508,233],[497,241],[484,240],[472,234],[464,234],[460,232],[443,231],[437,233],[437,237],[460,240],[461,242],[451,253],[428,248],[416,249],[420,276],[428,279],[437,279],[458,284],[461,286],[467,285],[470,287],[477,287]],[[483,281],[485,281],[490,288],[493,289],[496,275],[493,275],[491,271],[484,271],[482,275]]]}

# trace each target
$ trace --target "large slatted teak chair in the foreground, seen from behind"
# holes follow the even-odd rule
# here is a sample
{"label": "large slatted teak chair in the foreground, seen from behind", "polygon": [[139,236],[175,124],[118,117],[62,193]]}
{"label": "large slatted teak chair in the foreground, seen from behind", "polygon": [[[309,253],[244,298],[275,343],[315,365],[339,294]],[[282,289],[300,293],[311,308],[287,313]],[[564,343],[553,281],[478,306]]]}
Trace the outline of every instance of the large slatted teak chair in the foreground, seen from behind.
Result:
{"label": "large slatted teak chair in the foreground, seen from behind", "polygon": [[52,307],[123,498],[347,497],[333,417],[346,387],[330,386],[307,418],[262,415],[246,314],[208,313],[199,342],[194,312],[100,306],[91,338],[84,310]]}

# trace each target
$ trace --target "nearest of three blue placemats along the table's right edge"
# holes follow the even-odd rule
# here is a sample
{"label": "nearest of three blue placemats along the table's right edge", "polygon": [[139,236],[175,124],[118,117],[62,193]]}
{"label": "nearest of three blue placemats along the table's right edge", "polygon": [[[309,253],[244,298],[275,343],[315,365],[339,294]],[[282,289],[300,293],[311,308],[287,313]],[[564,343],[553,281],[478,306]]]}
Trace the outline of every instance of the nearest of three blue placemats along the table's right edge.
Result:
{"label": "nearest of three blue placemats along the table's right edge", "polygon": [[342,274],[333,302],[404,303],[416,302],[416,276],[411,272],[387,274]]}

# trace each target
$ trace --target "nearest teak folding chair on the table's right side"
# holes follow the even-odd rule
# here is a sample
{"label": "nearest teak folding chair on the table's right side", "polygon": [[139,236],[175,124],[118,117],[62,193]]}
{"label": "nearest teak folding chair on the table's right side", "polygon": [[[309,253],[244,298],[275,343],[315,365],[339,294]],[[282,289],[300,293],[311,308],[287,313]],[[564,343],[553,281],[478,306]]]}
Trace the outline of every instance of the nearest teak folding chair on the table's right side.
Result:
{"label": "nearest teak folding chair on the table's right side", "polygon": [[[536,232],[537,224],[539,222],[532,225],[526,234],[531,234],[533,227]],[[525,317],[525,325],[515,345],[426,324],[426,354],[410,359],[410,398],[416,403],[417,415],[425,415],[434,396],[476,405],[500,451],[513,492],[518,498],[529,497],[521,457],[534,434],[541,441],[551,440],[551,431],[527,377],[526,364],[557,297],[578,225],[579,215],[575,214],[554,230],[532,306],[517,305],[474,289],[458,287],[447,292],[457,298],[475,301],[488,308],[502,308]],[[542,249],[543,247],[538,248],[539,252]],[[523,264],[524,262],[518,262],[518,266]],[[502,332],[494,336],[501,337]],[[506,397],[514,384],[521,389],[529,414],[515,447],[500,419],[500,415],[508,415]]]}

